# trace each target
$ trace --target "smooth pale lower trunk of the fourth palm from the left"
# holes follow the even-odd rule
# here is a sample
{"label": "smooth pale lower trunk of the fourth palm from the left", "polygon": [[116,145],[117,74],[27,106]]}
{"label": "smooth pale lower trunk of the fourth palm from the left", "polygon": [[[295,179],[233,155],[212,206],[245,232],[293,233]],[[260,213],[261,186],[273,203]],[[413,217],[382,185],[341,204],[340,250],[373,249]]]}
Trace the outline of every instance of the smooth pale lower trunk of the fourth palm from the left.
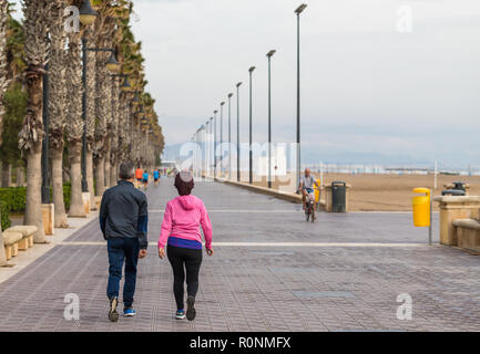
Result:
{"label": "smooth pale lower trunk of the fourth palm from the left", "polygon": [[69,159],[72,177],[72,196],[70,201],[69,217],[72,218],[86,217],[82,200],[81,152],[82,144],[80,142],[74,142],[73,144],[70,144]]}

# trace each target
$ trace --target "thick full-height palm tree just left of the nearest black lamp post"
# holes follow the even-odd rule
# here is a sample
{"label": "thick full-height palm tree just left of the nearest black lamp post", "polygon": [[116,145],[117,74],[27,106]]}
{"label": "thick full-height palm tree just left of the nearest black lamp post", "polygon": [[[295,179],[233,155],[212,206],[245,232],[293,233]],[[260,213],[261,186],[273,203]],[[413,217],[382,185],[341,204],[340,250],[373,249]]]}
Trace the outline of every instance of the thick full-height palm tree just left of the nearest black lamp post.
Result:
{"label": "thick full-height palm tree just left of the nearest black lamp post", "polygon": [[27,115],[19,133],[19,147],[27,155],[27,207],[24,223],[37,226],[34,241],[44,243],[41,210],[41,156],[43,138],[42,93],[48,51],[48,0],[23,1],[25,31],[25,86],[29,97]]}

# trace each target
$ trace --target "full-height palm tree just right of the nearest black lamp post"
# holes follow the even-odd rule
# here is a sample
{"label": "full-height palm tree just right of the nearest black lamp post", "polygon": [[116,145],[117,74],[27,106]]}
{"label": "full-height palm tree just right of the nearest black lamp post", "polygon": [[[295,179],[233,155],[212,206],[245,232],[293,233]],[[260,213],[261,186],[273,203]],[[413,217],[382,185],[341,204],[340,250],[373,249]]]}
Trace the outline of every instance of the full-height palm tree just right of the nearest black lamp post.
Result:
{"label": "full-height palm tree just right of the nearest black lamp post", "polygon": [[68,228],[69,222],[63,200],[63,147],[67,111],[65,87],[65,32],[63,30],[64,0],[55,0],[50,13],[49,53],[49,116],[50,157],[52,159],[52,197],[54,204],[54,227]]}

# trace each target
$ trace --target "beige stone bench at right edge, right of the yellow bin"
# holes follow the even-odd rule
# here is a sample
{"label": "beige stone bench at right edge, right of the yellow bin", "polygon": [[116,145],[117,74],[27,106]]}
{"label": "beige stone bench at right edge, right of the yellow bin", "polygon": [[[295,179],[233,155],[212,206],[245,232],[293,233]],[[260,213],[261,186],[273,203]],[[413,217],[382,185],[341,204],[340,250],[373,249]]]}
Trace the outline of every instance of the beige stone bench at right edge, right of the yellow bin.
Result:
{"label": "beige stone bench at right edge, right of the yellow bin", "polygon": [[440,243],[458,246],[458,237],[453,220],[479,219],[480,197],[478,196],[443,196],[433,201],[440,208]]}

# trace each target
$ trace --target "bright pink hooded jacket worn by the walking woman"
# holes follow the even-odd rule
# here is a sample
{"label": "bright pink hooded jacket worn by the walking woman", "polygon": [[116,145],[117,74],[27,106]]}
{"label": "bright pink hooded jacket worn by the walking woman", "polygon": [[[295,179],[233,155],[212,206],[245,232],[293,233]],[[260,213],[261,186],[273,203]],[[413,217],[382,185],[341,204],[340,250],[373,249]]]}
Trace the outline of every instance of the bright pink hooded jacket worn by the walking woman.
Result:
{"label": "bright pink hooded jacket worn by the walking woman", "polygon": [[212,222],[202,199],[190,195],[180,196],[167,202],[160,231],[159,248],[164,248],[168,237],[202,243],[202,226],[205,247],[212,248]]}

